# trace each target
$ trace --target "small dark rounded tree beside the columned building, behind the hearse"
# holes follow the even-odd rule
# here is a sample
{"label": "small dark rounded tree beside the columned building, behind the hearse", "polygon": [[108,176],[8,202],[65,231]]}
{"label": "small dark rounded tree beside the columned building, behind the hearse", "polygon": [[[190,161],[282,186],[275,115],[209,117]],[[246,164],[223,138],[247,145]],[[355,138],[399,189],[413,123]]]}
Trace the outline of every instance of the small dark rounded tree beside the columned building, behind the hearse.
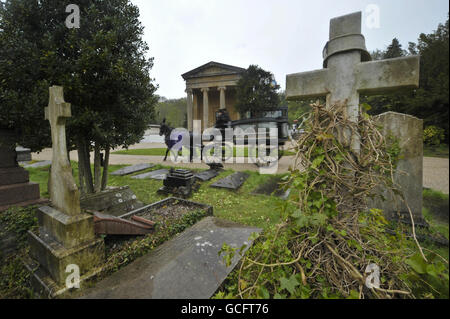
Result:
{"label": "small dark rounded tree beside the columned building, behind the hearse", "polygon": [[280,102],[277,94],[279,88],[271,72],[250,65],[237,83],[236,111],[244,115],[249,111],[277,108]]}

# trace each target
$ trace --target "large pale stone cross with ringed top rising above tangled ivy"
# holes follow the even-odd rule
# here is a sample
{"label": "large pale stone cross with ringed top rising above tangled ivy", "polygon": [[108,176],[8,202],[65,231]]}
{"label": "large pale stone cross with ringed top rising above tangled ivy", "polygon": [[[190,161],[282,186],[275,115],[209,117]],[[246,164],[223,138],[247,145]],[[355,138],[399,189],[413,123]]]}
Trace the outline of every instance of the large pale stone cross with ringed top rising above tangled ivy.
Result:
{"label": "large pale stone cross with ringed top rising above tangled ivy", "polygon": [[[360,94],[419,85],[419,56],[369,62],[371,57],[361,34],[361,12],[331,19],[323,58],[321,70],[286,76],[287,99],[326,96],[327,106],[346,102],[347,117],[357,122]],[[358,155],[359,136],[348,135],[346,143]]]}

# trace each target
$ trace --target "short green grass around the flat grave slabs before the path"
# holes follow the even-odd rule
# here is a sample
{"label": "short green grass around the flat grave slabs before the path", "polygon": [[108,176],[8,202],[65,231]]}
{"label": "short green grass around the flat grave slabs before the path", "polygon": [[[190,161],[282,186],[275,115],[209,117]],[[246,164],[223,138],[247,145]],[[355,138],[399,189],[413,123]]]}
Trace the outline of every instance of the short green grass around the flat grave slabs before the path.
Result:
{"label": "short green grass around the flat grave slabs before the path", "polygon": [[[113,172],[126,165],[112,165],[109,172]],[[72,162],[73,174],[78,183],[78,164]],[[141,174],[147,171],[166,168],[161,165],[136,173]],[[47,179],[48,167],[30,168],[30,180],[39,183],[41,196],[48,197]],[[200,189],[195,192],[190,200],[212,205],[214,207],[214,216],[228,219],[241,224],[266,228],[269,224],[279,222],[279,207],[283,200],[275,196],[253,195],[251,192],[260,184],[267,181],[273,175],[260,175],[258,172],[247,173],[250,177],[237,191],[227,189],[218,189],[209,187],[214,181],[232,174],[232,170],[223,171],[219,176],[208,182],[202,182]],[[153,179],[132,179],[131,176],[109,176],[109,186],[125,186],[129,185],[137,198],[144,203],[150,204],[161,200],[166,195],[157,194],[156,191],[162,186],[162,181]]]}

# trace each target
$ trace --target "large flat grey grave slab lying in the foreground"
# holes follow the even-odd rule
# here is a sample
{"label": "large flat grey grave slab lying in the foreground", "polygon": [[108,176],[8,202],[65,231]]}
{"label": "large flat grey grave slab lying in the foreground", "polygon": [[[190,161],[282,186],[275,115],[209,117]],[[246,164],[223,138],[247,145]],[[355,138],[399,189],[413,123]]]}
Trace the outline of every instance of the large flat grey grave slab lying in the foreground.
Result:
{"label": "large flat grey grave slab lying in the foreground", "polygon": [[146,256],[86,290],[84,299],[206,299],[238,263],[236,254],[226,267],[218,253],[252,244],[248,238],[261,229],[215,217],[205,217]]}

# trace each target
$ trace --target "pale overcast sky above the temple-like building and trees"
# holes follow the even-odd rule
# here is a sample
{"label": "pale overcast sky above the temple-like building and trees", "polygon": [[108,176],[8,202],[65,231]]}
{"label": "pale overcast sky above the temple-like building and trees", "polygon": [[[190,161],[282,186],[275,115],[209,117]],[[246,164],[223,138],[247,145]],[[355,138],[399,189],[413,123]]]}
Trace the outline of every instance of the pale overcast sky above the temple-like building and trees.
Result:
{"label": "pale overcast sky above the temple-like building and trees", "polygon": [[[257,64],[273,72],[284,90],[286,74],[322,68],[329,20],[337,16],[362,11],[362,33],[372,51],[385,49],[394,37],[407,49],[420,33],[444,23],[449,10],[447,0],[132,2],[140,9],[149,56],[155,58],[151,75],[157,94],[167,98],[184,97],[181,74],[210,61],[243,68]],[[371,4],[379,8],[379,28],[368,19],[375,17]]]}

